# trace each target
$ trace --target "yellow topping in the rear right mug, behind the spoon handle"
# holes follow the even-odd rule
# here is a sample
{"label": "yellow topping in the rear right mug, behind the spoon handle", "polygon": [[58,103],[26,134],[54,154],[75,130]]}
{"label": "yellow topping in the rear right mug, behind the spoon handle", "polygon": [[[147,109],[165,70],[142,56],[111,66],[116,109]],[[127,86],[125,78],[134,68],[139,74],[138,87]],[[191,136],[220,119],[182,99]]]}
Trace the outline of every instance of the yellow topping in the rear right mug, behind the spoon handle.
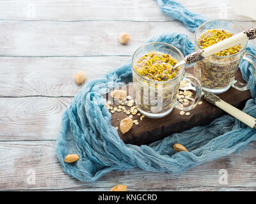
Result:
{"label": "yellow topping in the rear right mug, behind the spoon handle", "polygon": [[[220,41],[223,41],[227,38],[230,38],[231,36],[233,36],[234,33],[225,31],[225,30],[221,30],[221,29],[212,29],[212,30],[208,30],[205,33],[203,33],[200,38],[198,38],[198,45],[200,45],[200,47],[202,49],[209,47],[211,45],[214,45],[215,43],[218,43]],[[220,52],[217,52],[214,55],[218,55],[218,56],[228,56],[228,55],[234,55],[237,52],[239,52],[241,50],[242,46],[241,44],[230,47],[226,50],[222,50]]]}

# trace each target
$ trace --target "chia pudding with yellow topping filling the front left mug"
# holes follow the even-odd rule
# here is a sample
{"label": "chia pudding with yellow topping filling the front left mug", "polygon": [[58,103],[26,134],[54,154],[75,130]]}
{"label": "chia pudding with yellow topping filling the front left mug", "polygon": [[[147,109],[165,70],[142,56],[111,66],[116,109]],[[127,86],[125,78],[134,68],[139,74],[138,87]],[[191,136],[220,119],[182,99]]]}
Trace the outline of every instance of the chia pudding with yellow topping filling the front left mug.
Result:
{"label": "chia pudding with yellow topping filling the front left mug", "polygon": [[148,113],[164,113],[173,108],[179,90],[180,68],[173,69],[177,61],[161,52],[148,52],[136,62],[133,75],[136,105]]}

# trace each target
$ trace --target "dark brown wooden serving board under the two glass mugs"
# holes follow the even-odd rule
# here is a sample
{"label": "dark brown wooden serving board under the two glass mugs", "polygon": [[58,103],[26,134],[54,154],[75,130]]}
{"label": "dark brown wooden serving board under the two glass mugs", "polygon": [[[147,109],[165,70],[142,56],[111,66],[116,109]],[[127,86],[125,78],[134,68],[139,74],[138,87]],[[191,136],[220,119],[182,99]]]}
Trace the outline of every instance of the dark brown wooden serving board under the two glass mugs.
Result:
{"label": "dark brown wooden serving board under the two glass mugs", "polygon": [[[188,68],[188,72],[193,73],[193,68]],[[237,72],[237,78],[242,78],[241,73]],[[127,85],[127,89],[131,89]],[[250,91],[238,91],[234,88],[228,89],[227,92],[219,94],[223,101],[242,109],[248,99],[251,98]],[[108,94],[107,94],[108,97]],[[132,128],[124,135],[118,129],[118,135],[125,143],[131,143],[134,145],[148,144],[156,140],[162,139],[172,133],[180,133],[186,129],[193,128],[195,126],[204,126],[209,124],[212,120],[224,115],[225,112],[220,108],[202,100],[202,105],[197,105],[193,110],[189,110],[190,115],[180,115],[180,110],[173,108],[173,111],[161,119],[143,118],[140,120],[140,116],[133,115],[133,120],[138,120],[139,125],[133,124]],[[111,105],[113,107],[118,105]],[[126,106],[129,108],[128,106]],[[112,113],[111,124],[112,126],[119,127],[120,121],[128,117],[124,112]]]}

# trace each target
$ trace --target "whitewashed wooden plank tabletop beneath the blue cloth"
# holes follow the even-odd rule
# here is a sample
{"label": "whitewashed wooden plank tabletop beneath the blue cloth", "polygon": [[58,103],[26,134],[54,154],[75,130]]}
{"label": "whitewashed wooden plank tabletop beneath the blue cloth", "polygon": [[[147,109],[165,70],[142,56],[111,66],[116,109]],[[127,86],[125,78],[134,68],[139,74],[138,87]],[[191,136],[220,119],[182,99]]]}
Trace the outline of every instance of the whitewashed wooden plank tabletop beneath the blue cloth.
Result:
{"label": "whitewashed wooden plank tabletop beneath the blue cloth", "polygon": [[[180,2],[209,19],[256,25],[236,15],[228,1]],[[123,31],[131,34],[128,45],[118,43]],[[116,184],[126,184],[128,191],[255,190],[256,142],[182,175],[135,168],[80,182],[63,173],[56,136],[62,113],[83,87],[73,75],[84,70],[87,82],[100,77],[164,32],[193,40],[193,33],[153,0],[0,1],[0,190],[109,191]],[[227,170],[227,184],[219,182],[221,169]]]}

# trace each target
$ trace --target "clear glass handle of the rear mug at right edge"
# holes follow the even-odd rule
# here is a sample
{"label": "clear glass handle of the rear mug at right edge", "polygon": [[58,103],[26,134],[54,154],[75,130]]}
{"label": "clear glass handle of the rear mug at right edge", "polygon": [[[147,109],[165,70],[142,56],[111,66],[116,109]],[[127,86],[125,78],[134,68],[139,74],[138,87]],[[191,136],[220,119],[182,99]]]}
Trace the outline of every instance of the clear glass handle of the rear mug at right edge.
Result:
{"label": "clear glass handle of the rear mug at right edge", "polygon": [[[252,59],[250,59],[248,57],[248,55],[250,57],[252,57],[255,61],[256,61],[256,57],[253,56],[252,54],[248,53],[248,52],[245,52],[245,54],[243,55],[243,59],[250,62],[250,64],[252,64],[252,67],[253,67],[253,81],[248,82],[247,84],[243,84],[243,83],[237,81],[237,79],[236,79],[234,84],[232,84],[232,87],[234,87],[235,89],[237,89],[239,91],[245,91],[245,90],[250,89],[256,82],[256,64],[255,64],[255,62],[252,61]],[[240,86],[237,86],[236,84],[239,84]]]}

